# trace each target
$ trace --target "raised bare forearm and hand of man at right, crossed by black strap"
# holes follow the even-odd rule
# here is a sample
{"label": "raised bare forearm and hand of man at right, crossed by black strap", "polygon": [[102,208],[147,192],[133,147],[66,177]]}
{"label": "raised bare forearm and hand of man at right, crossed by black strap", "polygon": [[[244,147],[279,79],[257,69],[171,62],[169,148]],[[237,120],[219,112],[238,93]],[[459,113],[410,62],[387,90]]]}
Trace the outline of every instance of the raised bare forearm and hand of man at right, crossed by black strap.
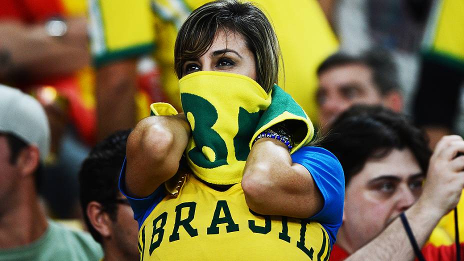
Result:
{"label": "raised bare forearm and hand of man at right, crossed by black strap", "polygon": [[[459,201],[464,188],[464,141],[460,136],[443,137],[430,158],[422,195],[405,211],[412,233],[422,246],[439,219]],[[457,157],[456,157],[457,156]],[[345,260],[412,260],[414,252],[399,218],[377,237]]]}

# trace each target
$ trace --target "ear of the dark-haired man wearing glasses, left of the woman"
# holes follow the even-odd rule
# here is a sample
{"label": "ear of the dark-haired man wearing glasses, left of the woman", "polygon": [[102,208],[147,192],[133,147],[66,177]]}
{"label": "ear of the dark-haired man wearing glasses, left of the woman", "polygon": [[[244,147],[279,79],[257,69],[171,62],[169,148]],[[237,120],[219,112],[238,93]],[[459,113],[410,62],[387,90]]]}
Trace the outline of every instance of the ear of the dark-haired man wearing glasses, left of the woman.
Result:
{"label": "ear of the dark-haired man wearing glasses, left of the woman", "polygon": [[111,236],[111,219],[109,218],[108,213],[103,211],[103,206],[100,203],[90,201],[87,204],[85,214],[87,215],[90,224],[96,231],[98,231],[101,237],[105,238]]}

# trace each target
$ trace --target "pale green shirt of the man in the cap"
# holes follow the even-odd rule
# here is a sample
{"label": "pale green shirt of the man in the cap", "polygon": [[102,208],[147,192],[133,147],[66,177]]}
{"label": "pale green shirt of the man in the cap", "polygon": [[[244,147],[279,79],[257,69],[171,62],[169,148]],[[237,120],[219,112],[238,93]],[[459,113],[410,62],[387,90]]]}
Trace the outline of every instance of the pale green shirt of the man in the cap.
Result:
{"label": "pale green shirt of the man in the cap", "polygon": [[101,246],[84,232],[74,231],[48,220],[48,228],[36,241],[15,248],[0,249],[0,260],[99,260]]}

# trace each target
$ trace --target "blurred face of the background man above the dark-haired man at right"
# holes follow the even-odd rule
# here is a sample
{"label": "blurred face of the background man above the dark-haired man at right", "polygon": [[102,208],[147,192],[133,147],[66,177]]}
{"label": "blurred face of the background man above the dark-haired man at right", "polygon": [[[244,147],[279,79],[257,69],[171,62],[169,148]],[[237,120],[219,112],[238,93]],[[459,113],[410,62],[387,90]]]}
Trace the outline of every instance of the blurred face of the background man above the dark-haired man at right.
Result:
{"label": "blurred face of the background man above the dark-haired man at right", "polygon": [[321,127],[329,125],[352,104],[382,104],[382,96],[372,81],[371,69],[358,63],[322,71],[316,95]]}

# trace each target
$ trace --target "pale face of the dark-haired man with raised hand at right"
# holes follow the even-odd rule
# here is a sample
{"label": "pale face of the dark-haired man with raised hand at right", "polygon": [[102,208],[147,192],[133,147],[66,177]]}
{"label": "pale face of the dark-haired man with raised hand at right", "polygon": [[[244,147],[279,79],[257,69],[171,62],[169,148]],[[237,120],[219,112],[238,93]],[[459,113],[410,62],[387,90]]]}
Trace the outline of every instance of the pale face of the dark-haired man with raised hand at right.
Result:
{"label": "pale face of the dark-haired man with raised hand at right", "polygon": [[367,160],[346,186],[337,243],[353,252],[370,241],[417,200],[423,179],[424,174],[407,148]]}

